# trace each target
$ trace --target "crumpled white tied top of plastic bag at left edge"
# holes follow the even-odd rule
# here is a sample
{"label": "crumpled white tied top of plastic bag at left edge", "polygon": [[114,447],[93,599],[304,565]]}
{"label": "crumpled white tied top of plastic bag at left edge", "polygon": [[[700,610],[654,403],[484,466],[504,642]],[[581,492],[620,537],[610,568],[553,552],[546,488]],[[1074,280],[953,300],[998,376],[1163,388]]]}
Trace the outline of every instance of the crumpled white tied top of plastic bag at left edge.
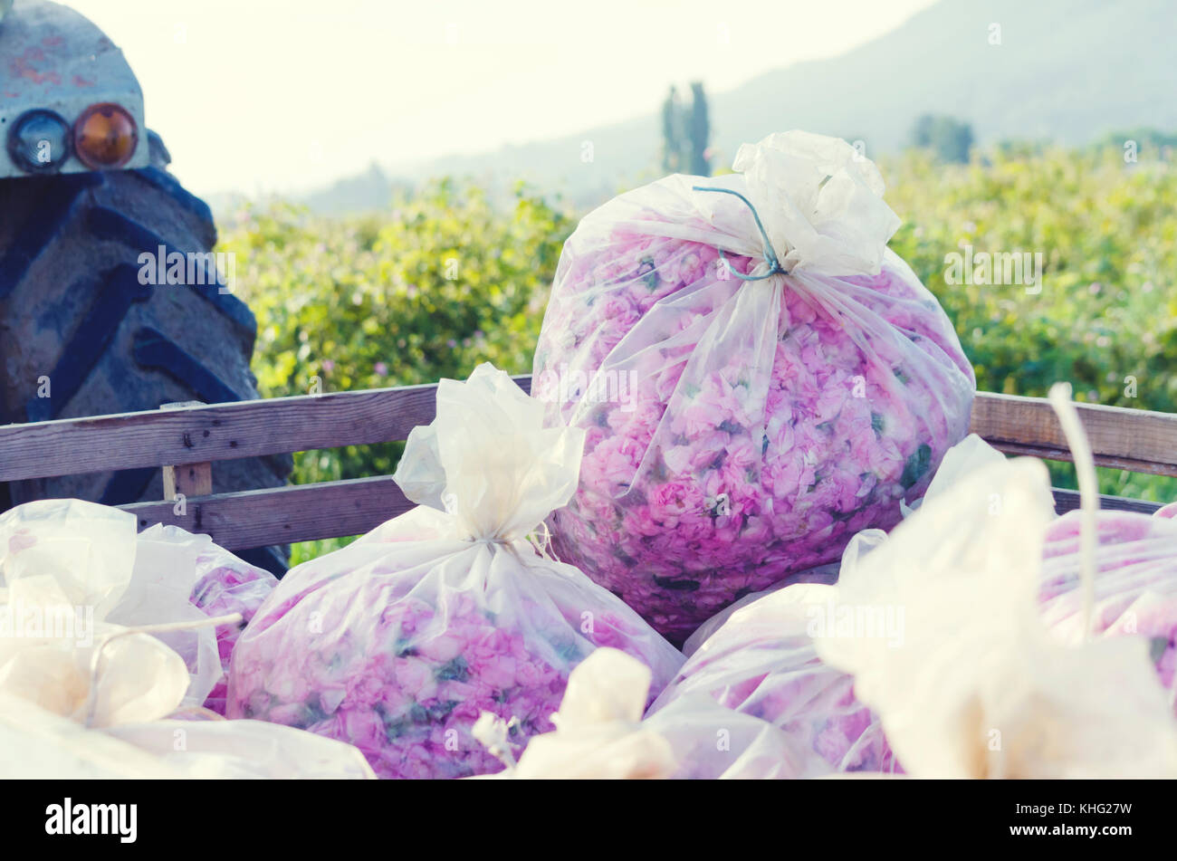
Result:
{"label": "crumpled white tied top of plastic bag at left edge", "polygon": [[[80,500],[0,515],[0,689],[92,726],[205,701],[221,667],[188,601],[194,556],[140,545],[137,526]],[[182,629],[132,632],[146,625]]]}

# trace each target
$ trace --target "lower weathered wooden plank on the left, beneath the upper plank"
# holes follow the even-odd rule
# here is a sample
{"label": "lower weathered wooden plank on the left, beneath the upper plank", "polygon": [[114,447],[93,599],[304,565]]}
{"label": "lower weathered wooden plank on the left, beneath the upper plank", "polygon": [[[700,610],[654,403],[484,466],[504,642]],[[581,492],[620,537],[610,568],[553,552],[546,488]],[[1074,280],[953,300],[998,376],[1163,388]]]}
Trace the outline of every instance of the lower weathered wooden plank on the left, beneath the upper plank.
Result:
{"label": "lower weathered wooden plank on the left, beneath the upper plank", "polygon": [[412,507],[390,475],[120,506],[140,529],[172,523],[231,550],[359,535]]}

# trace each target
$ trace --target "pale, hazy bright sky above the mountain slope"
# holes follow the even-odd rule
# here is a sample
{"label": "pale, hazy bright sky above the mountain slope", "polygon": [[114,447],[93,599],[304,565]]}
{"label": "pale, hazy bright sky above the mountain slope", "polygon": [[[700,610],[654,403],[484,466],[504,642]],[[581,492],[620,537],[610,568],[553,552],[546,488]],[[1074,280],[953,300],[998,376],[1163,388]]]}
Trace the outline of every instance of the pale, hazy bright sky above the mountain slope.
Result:
{"label": "pale, hazy bright sky above the mountain slope", "polygon": [[651,113],[832,56],[933,0],[67,0],[198,194],[318,187]]}

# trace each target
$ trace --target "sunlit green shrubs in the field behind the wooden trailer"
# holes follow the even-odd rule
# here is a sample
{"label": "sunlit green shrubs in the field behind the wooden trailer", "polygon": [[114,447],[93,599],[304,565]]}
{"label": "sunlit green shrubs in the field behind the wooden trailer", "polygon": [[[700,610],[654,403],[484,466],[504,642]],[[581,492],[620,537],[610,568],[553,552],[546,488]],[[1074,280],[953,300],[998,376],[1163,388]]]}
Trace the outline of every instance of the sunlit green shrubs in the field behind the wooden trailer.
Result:
{"label": "sunlit green shrubs in the field behind the wooden trailer", "polygon": [[[891,245],[938,296],[982,389],[1177,412],[1177,174],[1113,148],[1010,148],[882,165],[904,219]],[[221,228],[258,316],[265,396],[527,373],[560,247],[578,213],[519,187],[510,208],[441,180],[379,214],[246,207]],[[953,253],[1035,255],[1040,285],[962,283]],[[964,279],[972,281],[973,279]],[[1025,280],[1025,273],[1023,273]],[[1037,289],[1040,286],[1040,291]],[[295,482],[390,473],[399,447],[298,455]],[[1102,489],[1177,498],[1177,480],[1103,470]],[[1070,468],[1056,482],[1073,486]],[[304,548],[320,552],[324,546]],[[301,550],[295,549],[295,560]]]}

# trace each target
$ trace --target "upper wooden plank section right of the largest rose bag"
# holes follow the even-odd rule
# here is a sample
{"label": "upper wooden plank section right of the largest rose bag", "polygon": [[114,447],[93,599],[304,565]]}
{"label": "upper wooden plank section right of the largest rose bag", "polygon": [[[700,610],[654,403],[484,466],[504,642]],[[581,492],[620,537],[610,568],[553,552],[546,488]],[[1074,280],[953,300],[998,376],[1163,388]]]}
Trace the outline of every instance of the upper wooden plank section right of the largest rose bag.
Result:
{"label": "upper wooden plank section right of the largest rose bag", "polygon": [[[1096,465],[1177,475],[1177,414],[1076,403]],[[1049,460],[1071,460],[1058,418],[1044,398],[978,393],[973,433],[996,448]]]}

